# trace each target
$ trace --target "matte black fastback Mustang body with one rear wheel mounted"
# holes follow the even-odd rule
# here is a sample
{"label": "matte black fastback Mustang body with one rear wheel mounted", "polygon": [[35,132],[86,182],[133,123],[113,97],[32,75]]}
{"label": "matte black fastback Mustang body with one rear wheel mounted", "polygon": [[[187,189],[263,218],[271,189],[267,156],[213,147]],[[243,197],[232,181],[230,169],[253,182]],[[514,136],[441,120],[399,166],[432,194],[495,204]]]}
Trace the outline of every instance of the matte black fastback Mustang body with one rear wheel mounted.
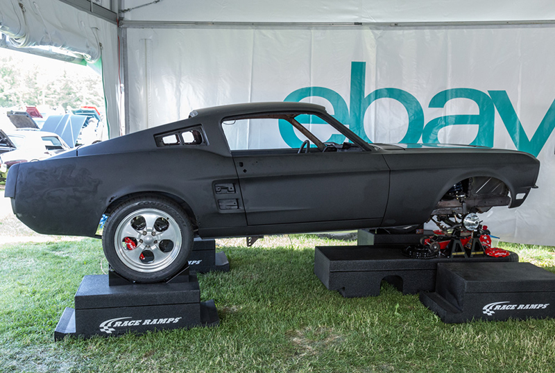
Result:
{"label": "matte black fastback Mustang body with one rear wheel mounted", "polygon": [[[239,123],[260,132],[279,125],[306,140],[241,150],[241,132],[228,129]],[[512,150],[368,144],[319,105],[249,103],[17,164],[5,195],[17,218],[43,234],[95,236],[108,216],[108,261],[150,282],[185,266],[194,236],[401,227],[518,207],[539,166]]]}

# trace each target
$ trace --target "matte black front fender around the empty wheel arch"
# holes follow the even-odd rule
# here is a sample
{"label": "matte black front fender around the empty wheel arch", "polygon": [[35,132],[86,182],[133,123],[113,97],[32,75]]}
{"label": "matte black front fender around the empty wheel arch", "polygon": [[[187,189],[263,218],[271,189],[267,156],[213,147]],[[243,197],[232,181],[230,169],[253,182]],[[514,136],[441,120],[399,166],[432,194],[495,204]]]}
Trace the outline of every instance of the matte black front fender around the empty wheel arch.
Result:
{"label": "matte black front fender around the empty wheel arch", "polygon": [[529,192],[538,177],[539,162],[510,150],[407,149],[384,154],[391,168],[389,202],[383,226],[424,223],[453,184],[473,176],[502,180],[511,191],[511,207],[522,204],[518,193]]}

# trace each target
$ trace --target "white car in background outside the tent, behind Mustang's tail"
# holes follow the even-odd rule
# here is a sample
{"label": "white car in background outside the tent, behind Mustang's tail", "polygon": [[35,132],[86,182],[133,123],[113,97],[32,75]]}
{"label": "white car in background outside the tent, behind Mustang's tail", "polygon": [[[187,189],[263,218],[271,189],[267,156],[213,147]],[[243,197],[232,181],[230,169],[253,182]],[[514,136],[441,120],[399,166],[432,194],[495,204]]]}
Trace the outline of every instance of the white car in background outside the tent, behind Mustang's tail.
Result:
{"label": "white car in background outside the tent, behind Mustang's tail", "polygon": [[0,130],[0,180],[6,179],[13,164],[38,161],[56,155],[70,147],[53,132],[39,130]]}

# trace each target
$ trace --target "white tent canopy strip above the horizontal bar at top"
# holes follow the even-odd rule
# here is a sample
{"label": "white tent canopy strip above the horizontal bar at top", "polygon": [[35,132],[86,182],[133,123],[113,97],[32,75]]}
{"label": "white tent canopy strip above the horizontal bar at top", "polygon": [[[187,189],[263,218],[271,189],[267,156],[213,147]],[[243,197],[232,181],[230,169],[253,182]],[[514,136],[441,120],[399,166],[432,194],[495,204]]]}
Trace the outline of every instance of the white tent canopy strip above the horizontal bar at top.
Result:
{"label": "white tent canopy strip above the horizontal bar at top", "polygon": [[[145,4],[149,4],[145,6]],[[159,22],[415,22],[552,21],[549,0],[123,0],[126,21]]]}

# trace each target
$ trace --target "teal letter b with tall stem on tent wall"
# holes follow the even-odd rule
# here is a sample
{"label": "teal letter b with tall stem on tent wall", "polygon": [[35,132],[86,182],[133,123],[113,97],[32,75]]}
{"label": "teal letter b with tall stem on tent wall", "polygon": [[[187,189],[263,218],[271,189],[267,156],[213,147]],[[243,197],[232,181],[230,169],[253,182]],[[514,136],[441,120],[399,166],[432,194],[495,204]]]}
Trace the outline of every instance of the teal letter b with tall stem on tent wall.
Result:
{"label": "teal letter b with tall stem on tent wall", "polygon": [[364,97],[366,62],[351,63],[350,129],[364,141],[371,142],[364,131],[364,113],[379,98],[393,98],[402,103],[409,114],[409,128],[400,142],[417,143],[424,127],[424,112],[416,98],[397,88],[381,88]]}

